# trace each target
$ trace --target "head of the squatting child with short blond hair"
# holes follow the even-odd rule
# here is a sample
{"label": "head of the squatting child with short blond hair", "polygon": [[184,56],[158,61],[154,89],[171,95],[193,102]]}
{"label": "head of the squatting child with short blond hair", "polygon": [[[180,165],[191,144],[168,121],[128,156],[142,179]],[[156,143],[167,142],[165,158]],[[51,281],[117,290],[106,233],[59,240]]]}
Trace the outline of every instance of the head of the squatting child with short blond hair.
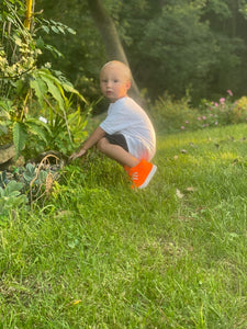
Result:
{"label": "head of the squatting child with short blond hair", "polygon": [[131,81],[126,76],[123,67],[117,64],[104,67],[100,75],[100,87],[103,95],[111,103],[127,95],[127,90],[131,88]]}

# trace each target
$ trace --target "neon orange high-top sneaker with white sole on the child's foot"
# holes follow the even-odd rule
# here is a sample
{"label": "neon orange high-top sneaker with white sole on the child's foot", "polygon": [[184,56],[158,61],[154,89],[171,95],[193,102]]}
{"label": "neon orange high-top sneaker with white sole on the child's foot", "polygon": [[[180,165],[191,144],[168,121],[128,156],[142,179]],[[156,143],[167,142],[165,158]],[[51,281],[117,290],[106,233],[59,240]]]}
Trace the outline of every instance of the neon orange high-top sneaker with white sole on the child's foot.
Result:
{"label": "neon orange high-top sneaker with white sole on the child's foot", "polygon": [[132,188],[146,188],[154,177],[156,170],[157,167],[150,162],[147,162],[146,160],[142,160],[136,167],[131,168],[128,170],[128,174],[133,181]]}

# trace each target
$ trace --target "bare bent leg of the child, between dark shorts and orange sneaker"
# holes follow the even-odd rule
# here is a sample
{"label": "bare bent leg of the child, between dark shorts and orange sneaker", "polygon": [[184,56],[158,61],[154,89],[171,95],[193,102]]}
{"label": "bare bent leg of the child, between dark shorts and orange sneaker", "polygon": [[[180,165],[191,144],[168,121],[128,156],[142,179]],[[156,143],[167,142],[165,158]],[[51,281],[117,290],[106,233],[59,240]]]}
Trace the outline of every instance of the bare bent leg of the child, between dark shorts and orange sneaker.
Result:
{"label": "bare bent leg of the child, between dark shorts and orange sneaker", "polygon": [[101,138],[97,148],[108,156],[109,158],[117,161],[122,166],[135,167],[138,164],[139,160],[133,157],[128,151],[126,151],[122,146],[116,144],[111,144],[106,137]]}

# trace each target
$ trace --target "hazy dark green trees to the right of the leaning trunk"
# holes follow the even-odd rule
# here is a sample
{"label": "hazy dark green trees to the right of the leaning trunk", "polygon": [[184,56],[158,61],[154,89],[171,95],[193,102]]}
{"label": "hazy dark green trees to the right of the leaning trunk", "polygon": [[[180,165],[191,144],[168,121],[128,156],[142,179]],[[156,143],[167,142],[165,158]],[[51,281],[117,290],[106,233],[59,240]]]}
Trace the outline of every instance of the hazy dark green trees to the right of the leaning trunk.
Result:
{"label": "hazy dark green trees to the right of the leaning trunk", "polygon": [[239,15],[236,26],[233,22],[239,1],[135,2],[139,7],[124,1],[117,26],[126,26],[125,49],[138,86],[149,97],[168,91],[181,98],[188,88],[193,100],[227,89],[245,92],[246,22]]}

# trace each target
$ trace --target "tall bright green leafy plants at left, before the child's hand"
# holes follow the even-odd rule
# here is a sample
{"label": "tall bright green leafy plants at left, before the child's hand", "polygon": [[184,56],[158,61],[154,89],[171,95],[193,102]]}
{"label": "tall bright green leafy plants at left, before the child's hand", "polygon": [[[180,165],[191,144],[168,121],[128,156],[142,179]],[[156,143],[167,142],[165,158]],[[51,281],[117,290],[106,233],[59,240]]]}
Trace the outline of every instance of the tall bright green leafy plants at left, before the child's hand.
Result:
{"label": "tall bright green leafy plants at left, before the child's hand", "polygon": [[[64,152],[71,151],[78,145],[78,139],[81,141],[86,136],[87,121],[86,116],[81,116],[81,112],[86,110],[80,110],[80,104],[86,103],[86,100],[60,72],[52,70],[48,64],[37,66],[41,48],[55,52],[54,47],[45,45],[37,32],[48,33],[49,29],[56,33],[74,31],[61,23],[47,20],[43,23],[41,19],[36,19],[35,30],[30,32],[20,20],[24,11],[22,2],[16,5],[11,1],[3,2],[1,32],[4,37],[0,54],[1,140],[11,139],[12,135],[16,157],[24,147],[26,155],[34,148],[36,151],[50,147],[60,148]],[[46,113],[52,118],[47,120],[48,125],[38,120],[41,114]],[[59,120],[56,121],[55,116]],[[57,137],[60,138],[58,145],[54,141]]]}

